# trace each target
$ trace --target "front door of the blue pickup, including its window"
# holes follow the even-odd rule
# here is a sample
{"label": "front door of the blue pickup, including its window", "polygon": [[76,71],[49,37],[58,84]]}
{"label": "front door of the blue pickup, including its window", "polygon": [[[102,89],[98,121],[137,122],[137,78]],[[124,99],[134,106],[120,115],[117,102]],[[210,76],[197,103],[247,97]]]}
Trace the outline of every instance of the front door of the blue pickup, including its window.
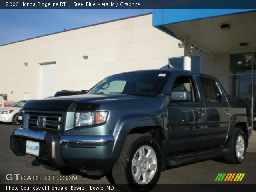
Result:
{"label": "front door of the blue pickup, including its window", "polygon": [[196,76],[188,74],[174,77],[172,90],[188,90],[188,102],[168,104],[168,156],[203,150],[205,134],[205,108],[196,85]]}

